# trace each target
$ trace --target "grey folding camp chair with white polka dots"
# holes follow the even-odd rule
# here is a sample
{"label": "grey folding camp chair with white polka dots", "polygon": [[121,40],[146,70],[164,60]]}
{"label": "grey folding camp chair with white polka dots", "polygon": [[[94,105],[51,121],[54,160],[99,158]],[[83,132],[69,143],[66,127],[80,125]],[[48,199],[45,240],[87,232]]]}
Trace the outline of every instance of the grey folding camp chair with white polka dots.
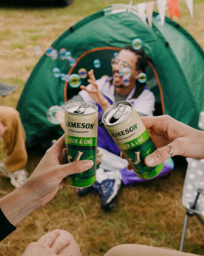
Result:
{"label": "grey folding camp chair with white polka dots", "polygon": [[184,181],[182,204],[186,207],[180,251],[183,250],[189,216],[196,216],[204,225],[204,159],[187,158],[188,167]]}

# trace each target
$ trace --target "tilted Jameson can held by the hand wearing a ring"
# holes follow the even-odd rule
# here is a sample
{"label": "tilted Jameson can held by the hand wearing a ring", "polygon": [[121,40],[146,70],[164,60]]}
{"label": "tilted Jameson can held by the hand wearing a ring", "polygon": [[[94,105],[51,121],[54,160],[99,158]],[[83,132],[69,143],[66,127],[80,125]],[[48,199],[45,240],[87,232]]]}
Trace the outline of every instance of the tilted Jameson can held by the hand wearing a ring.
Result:
{"label": "tilted Jameson can held by the hand wearing a ring", "polygon": [[156,146],[131,103],[113,104],[103,113],[102,120],[138,177],[151,179],[161,172],[163,163],[154,167],[144,163]]}

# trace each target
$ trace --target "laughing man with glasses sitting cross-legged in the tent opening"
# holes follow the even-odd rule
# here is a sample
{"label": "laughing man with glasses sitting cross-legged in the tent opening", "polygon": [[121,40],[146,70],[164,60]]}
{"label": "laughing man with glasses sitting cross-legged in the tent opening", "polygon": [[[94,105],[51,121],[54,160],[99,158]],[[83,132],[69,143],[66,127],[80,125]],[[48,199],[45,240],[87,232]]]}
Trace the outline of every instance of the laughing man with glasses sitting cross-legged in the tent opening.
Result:
{"label": "laughing man with glasses sitting cross-legged in the tent opening", "polygon": [[[110,210],[116,202],[122,182],[127,185],[133,182],[141,182],[134,171],[126,168],[126,160],[120,158],[120,149],[105,129],[101,117],[103,112],[112,104],[119,101],[129,101],[135,107],[137,113],[152,116],[154,113],[154,94],[145,87],[145,69],[150,58],[144,49],[134,49],[133,46],[126,46],[112,59],[112,77],[102,77],[96,80],[94,71],[88,72],[88,86],[80,86],[82,89],[78,95],[73,96],[67,103],[89,102],[98,106],[99,126],[97,146],[101,152],[101,163],[96,174],[96,181],[91,187],[80,188],[77,191],[79,196],[95,189],[99,192],[104,210]],[[60,114],[61,112],[59,112]],[[64,121],[61,127],[65,130]],[[165,166],[165,175],[173,169],[172,162]],[[167,172],[166,172],[167,171]],[[160,176],[164,172],[160,173]],[[144,180],[142,180],[144,181]]]}

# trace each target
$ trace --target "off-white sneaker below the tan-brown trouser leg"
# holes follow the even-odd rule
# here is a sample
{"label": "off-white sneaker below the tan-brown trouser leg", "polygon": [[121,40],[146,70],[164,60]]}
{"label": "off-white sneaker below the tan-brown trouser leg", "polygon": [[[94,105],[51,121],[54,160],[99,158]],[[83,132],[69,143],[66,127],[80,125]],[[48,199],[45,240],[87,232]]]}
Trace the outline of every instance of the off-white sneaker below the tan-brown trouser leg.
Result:
{"label": "off-white sneaker below the tan-brown trouser leg", "polygon": [[10,183],[14,187],[19,187],[28,179],[28,173],[25,170],[9,172],[4,163],[0,164],[0,175],[10,179]]}

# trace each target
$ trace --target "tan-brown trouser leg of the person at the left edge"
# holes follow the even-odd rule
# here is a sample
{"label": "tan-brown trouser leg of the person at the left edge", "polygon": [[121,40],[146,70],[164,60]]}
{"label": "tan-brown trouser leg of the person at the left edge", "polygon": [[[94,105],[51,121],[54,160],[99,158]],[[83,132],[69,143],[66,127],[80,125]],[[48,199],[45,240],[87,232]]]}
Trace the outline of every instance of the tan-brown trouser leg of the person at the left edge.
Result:
{"label": "tan-brown trouser leg of the person at the left edge", "polygon": [[21,123],[20,114],[12,107],[0,106],[0,122],[5,129],[3,140],[6,156],[3,162],[9,172],[20,170],[27,164],[25,131]]}

